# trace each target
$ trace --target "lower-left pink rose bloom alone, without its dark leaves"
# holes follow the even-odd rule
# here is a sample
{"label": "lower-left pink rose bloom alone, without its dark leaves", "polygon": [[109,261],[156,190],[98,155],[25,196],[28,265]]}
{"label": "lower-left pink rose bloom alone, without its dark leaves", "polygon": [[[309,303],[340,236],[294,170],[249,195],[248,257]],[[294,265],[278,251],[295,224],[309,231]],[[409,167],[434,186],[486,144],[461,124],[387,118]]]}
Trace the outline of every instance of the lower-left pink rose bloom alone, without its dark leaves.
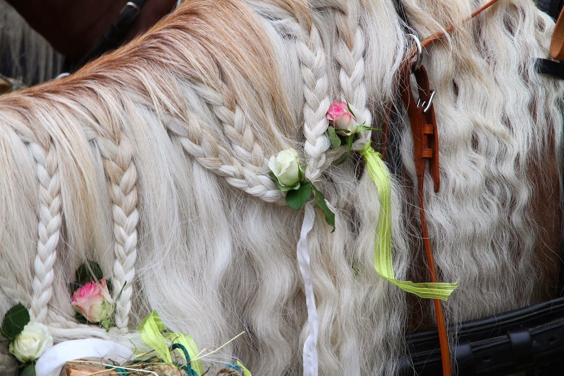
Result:
{"label": "lower-left pink rose bloom alone, without its dark leaves", "polygon": [[113,300],[109,294],[107,281],[86,282],[72,294],[72,306],[90,322],[102,322],[113,313]]}

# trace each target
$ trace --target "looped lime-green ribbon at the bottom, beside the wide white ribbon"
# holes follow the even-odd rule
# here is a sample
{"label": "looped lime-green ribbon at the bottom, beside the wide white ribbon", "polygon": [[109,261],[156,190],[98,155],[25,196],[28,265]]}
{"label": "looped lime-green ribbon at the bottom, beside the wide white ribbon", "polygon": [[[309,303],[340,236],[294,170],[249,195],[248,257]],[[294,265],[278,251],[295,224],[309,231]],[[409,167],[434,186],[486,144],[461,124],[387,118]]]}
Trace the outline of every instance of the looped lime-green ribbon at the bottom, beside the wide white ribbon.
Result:
{"label": "looped lime-green ribbon at the bottom, beside the wide white ribbon", "polygon": [[170,353],[169,342],[178,343],[186,348],[186,351],[190,356],[190,359],[186,359],[183,351],[179,348],[175,349],[184,361],[187,363],[190,362],[190,365],[197,374],[202,375],[204,373],[202,362],[200,360],[192,361],[192,359],[195,359],[199,354],[194,340],[188,334],[162,333],[162,331],[166,330],[166,326],[162,322],[161,316],[158,315],[157,311],[153,311],[145,317],[137,326],[137,330],[141,332],[141,338],[147,346],[155,350],[158,356],[160,356],[166,364],[174,365],[172,355]]}

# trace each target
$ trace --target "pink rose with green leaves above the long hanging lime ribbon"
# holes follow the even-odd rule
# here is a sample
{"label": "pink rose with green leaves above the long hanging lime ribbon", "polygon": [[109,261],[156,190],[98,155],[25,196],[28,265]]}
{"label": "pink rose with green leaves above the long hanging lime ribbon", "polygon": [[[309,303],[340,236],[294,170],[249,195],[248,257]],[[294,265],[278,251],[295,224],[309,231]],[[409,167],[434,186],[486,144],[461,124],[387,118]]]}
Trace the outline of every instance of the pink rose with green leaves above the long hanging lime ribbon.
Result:
{"label": "pink rose with green leaves above the long hanging lime ribbon", "polygon": [[337,149],[341,145],[346,145],[347,151],[337,164],[345,163],[352,149],[352,142],[355,135],[362,131],[381,131],[380,128],[371,128],[359,124],[356,121],[354,112],[352,111],[349,101],[334,101],[327,111],[327,120],[329,126],[327,127],[327,136],[331,141],[331,148]]}

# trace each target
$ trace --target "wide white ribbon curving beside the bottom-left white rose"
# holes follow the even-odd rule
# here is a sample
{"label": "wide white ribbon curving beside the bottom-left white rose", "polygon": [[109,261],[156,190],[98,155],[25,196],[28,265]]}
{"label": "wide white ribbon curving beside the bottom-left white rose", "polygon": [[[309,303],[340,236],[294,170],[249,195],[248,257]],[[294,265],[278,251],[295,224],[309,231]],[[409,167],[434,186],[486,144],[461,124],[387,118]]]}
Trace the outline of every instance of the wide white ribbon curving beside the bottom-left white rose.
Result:
{"label": "wide white ribbon curving beside the bottom-left white rose", "polygon": [[36,376],[58,376],[69,360],[84,358],[104,358],[117,362],[130,359],[133,351],[121,343],[89,338],[68,340],[56,344],[37,360]]}

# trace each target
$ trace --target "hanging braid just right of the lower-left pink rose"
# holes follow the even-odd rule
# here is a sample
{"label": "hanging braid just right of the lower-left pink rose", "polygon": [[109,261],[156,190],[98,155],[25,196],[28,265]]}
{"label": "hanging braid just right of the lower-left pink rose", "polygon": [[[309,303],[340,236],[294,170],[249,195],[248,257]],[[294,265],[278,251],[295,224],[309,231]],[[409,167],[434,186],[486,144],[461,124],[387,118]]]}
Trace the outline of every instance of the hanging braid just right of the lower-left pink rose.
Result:
{"label": "hanging braid just right of the lower-left pink rose", "polygon": [[121,329],[127,329],[131,311],[131,295],[137,258],[137,170],[133,162],[133,145],[124,134],[114,142],[99,137],[97,140],[104,157],[105,172],[110,183],[112,198],[114,254],[113,264],[114,297],[116,302],[114,322]]}

